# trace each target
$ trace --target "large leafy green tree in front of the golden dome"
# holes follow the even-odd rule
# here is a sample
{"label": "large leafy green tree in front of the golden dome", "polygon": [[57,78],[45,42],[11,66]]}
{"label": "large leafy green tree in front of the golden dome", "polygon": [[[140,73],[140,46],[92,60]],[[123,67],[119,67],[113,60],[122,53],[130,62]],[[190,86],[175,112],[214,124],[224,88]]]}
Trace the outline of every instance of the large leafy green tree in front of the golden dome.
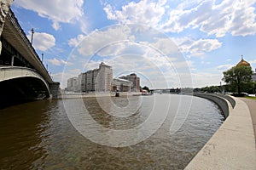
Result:
{"label": "large leafy green tree in front of the golden dome", "polygon": [[241,94],[252,84],[253,71],[249,65],[233,66],[230,70],[224,71],[223,74],[222,80],[230,86],[230,90],[238,94]]}

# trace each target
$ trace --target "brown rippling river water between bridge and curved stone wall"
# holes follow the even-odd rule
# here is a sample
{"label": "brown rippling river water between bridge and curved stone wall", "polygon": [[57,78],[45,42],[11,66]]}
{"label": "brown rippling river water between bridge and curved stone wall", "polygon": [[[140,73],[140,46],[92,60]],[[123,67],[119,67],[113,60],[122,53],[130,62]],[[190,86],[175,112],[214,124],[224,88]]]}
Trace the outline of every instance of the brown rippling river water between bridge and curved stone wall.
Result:
{"label": "brown rippling river water between bridge and curved stone wall", "polygon": [[[90,118],[79,118],[84,112]],[[154,121],[143,129],[154,130],[153,133],[141,140],[137,138],[143,135],[126,135],[125,129],[147,122],[151,114],[156,115]],[[0,166],[1,169],[183,169],[223,121],[217,105],[185,95],[41,100],[15,105],[0,110]],[[84,123],[86,127],[82,128],[90,131],[84,134],[74,122]],[[109,135],[99,133],[104,130],[97,130],[92,122],[124,132],[124,136],[119,139],[111,136],[109,140]],[[148,131],[141,134],[144,132]],[[121,143],[131,138],[136,142]]]}

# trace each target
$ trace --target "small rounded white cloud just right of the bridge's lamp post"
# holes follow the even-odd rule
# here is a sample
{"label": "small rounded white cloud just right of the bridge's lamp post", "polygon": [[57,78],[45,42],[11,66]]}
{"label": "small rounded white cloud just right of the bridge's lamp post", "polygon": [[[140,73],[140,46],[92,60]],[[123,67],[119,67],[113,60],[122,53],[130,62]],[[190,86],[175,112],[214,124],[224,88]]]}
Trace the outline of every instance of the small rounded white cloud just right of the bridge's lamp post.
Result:
{"label": "small rounded white cloud just right of the bridge's lamp post", "polygon": [[[27,37],[30,40],[32,35],[30,34]],[[55,37],[45,32],[35,31],[33,35],[32,45],[36,49],[39,49],[41,51],[47,51],[49,48],[55,46]]]}

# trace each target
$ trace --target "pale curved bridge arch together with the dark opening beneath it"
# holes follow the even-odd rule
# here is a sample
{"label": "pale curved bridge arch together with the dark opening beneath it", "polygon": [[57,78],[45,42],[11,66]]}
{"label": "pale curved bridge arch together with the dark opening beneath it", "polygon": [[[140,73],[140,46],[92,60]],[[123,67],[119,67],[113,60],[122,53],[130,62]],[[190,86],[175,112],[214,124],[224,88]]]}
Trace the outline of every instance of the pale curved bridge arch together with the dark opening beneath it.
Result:
{"label": "pale curved bridge arch together with the dark opening beneath it", "polygon": [[37,71],[26,67],[0,67],[0,108],[49,98],[49,85]]}

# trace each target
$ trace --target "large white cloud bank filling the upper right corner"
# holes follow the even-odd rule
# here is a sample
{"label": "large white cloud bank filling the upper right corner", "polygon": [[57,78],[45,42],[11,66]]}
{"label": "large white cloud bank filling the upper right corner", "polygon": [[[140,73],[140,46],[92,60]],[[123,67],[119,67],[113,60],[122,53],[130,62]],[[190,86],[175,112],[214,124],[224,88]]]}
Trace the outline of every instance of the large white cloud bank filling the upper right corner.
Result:
{"label": "large white cloud bank filling the upper right corner", "polygon": [[198,28],[208,35],[224,37],[226,33],[233,36],[247,36],[256,33],[253,1],[224,0],[219,4],[215,1],[203,1],[195,6],[179,5],[171,9],[169,20],[160,27],[164,31],[180,32],[184,29]]}

